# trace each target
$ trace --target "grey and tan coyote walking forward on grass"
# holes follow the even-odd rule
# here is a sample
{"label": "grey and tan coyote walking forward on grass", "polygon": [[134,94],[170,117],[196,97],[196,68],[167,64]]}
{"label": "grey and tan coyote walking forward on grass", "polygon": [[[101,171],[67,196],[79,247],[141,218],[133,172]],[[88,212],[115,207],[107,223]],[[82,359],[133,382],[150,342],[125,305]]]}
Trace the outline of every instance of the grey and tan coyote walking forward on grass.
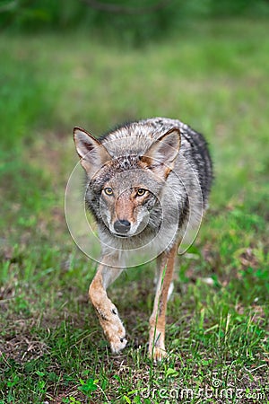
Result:
{"label": "grey and tan coyote walking forward on grass", "polygon": [[190,229],[198,229],[213,179],[204,137],[177,119],[154,118],[126,123],[99,139],[74,127],[74,144],[102,250],[91,303],[112,352],[119,352],[126,347],[126,329],[106,290],[126,260],[132,266],[133,258],[150,251],[150,259],[157,258],[157,285],[148,353],[161,360],[178,247]]}

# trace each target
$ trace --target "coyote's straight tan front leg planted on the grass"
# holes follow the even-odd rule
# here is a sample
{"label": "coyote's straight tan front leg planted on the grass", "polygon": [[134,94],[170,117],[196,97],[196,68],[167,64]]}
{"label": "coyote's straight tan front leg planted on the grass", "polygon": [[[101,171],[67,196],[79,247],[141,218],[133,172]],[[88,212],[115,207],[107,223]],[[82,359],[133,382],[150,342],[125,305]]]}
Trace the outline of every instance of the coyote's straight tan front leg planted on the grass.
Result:
{"label": "coyote's straight tan front leg planted on the grass", "polygon": [[178,251],[178,243],[159,257],[159,280],[156,288],[152,316],[150,318],[149,356],[154,361],[160,361],[166,356],[165,339],[165,315],[169,295],[169,285],[173,278],[175,259]]}

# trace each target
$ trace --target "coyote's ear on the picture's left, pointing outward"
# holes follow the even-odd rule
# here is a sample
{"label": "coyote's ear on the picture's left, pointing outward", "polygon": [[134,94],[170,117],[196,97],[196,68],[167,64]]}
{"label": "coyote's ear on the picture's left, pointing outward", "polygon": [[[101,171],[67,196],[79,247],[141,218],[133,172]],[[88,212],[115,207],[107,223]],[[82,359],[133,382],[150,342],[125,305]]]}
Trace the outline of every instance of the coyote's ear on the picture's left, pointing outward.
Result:
{"label": "coyote's ear on the picture's left, pointing outward", "polygon": [[74,127],[74,145],[83,169],[90,176],[111,159],[105,146],[81,127]]}

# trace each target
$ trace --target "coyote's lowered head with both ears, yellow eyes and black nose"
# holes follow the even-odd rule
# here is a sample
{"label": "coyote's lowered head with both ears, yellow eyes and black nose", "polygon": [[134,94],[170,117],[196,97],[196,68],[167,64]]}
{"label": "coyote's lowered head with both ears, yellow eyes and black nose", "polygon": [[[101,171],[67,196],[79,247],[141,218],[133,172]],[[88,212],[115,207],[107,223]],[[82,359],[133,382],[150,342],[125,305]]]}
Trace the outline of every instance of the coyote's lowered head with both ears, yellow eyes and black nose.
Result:
{"label": "coyote's lowered head with both ears, yellow eyes and black nose", "polygon": [[[142,153],[133,153],[137,142]],[[180,147],[178,128],[146,143],[142,136],[105,137],[80,127],[74,143],[87,174],[85,201],[99,223],[117,237],[132,237],[161,225],[161,193]],[[137,147],[136,147],[137,149]]]}

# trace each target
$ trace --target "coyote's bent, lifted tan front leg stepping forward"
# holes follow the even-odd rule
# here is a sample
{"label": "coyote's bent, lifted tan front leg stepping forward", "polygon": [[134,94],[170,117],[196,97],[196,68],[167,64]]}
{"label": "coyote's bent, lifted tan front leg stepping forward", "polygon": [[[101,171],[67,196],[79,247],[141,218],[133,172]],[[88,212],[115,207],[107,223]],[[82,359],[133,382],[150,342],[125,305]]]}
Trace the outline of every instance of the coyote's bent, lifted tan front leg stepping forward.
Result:
{"label": "coyote's bent, lifted tan front leg stepping forward", "polygon": [[110,344],[112,352],[119,352],[126,347],[126,329],[120,320],[116,306],[108,299],[106,289],[122,272],[122,268],[113,268],[100,264],[93,278],[89,296],[93,304],[102,329]]}

